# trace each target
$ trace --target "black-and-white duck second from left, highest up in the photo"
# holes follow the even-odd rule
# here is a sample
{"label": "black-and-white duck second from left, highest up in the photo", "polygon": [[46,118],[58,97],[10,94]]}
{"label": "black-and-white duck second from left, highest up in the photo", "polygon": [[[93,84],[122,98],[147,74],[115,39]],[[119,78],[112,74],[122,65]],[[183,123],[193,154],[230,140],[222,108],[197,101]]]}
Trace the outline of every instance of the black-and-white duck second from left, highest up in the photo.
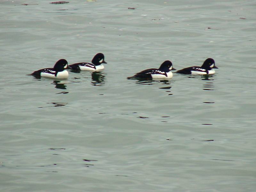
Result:
{"label": "black-and-white duck second from left, highest up in the photo", "polygon": [[107,63],[104,60],[103,53],[97,53],[93,59],[92,63],[82,62],[82,63],[74,63],[71,65],[68,65],[69,69],[73,70],[82,70],[82,71],[98,71],[104,69],[104,65],[102,63]]}

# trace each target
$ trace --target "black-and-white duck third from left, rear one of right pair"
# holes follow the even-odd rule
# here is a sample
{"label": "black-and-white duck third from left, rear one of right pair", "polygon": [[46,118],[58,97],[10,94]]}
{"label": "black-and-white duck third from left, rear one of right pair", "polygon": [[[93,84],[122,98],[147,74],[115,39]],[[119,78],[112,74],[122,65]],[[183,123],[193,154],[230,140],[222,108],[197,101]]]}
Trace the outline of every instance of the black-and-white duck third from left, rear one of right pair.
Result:
{"label": "black-and-white duck third from left, rear one of right pair", "polygon": [[164,61],[161,66],[157,68],[150,68],[139,73],[136,73],[134,76],[127,77],[127,79],[134,78],[143,78],[143,79],[170,79],[172,78],[171,70],[176,70],[172,67],[172,62],[170,60]]}

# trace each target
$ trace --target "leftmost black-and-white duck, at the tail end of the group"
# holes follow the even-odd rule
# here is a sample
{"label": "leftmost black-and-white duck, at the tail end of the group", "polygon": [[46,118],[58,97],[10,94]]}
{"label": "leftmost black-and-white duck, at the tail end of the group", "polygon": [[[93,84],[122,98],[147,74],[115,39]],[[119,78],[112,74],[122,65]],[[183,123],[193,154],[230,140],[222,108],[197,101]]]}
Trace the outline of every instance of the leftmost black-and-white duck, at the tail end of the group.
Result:
{"label": "leftmost black-and-white duck, at the tail end of the group", "polygon": [[44,68],[34,71],[30,75],[37,77],[49,77],[52,79],[67,79],[68,71],[65,70],[68,67],[68,61],[65,59],[58,60],[53,68]]}

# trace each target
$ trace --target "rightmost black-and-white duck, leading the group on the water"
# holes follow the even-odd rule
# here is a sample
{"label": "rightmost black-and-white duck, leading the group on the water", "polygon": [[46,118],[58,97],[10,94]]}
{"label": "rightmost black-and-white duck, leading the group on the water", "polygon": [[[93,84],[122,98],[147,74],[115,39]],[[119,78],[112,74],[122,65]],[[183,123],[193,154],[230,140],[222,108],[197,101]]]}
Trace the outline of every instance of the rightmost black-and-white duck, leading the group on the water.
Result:
{"label": "rightmost black-and-white duck, leading the group on the water", "polygon": [[176,71],[176,73],[185,75],[211,75],[215,73],[214,69],[218,69],[218,67],[215,66],[215,61],[212,58],[208,58],[204,61],[201,67],[187,67]]}

